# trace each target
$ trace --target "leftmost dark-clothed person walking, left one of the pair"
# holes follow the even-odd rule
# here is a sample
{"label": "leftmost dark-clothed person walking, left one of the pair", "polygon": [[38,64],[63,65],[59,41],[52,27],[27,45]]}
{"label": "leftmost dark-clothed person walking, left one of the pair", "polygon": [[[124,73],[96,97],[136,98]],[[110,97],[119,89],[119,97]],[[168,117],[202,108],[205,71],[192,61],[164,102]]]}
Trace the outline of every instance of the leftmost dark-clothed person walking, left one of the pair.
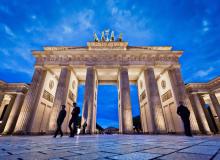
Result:
{"label": "leftmost dark-clothed person walking, left one of the pair", "polygon": [[60,137],[63,136],[63,131],[62,131],[62,123],[66,117],[66,110],[65,110],[66,106],[62,105],[62,109],[57,117],[57,130],[54,134],[54,138],[56,138],[57,134],[60,132]]}

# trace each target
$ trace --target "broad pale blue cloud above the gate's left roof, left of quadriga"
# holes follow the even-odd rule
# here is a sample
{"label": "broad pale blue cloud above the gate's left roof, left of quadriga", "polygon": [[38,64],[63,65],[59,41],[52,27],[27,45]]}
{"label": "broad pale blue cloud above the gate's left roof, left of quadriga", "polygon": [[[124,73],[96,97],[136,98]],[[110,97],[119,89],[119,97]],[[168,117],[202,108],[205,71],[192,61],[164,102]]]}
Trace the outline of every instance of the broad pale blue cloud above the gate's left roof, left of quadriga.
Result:
{"label": "broad pale blue cloud above the gate's left roof, left of quadriga", "polygon": [[[70,45],[74,39],[76,43],[82,42],[89,34],[92,36],[95,30],[94,11],[83,9],[67,16],[60,17],[54,24],[47,24],[47,21],[38,20],[35,24],[26,27],[26,32],[35,32],[37,35],[34,41],[43,45]],[[50,26],[51,25],[51,26]],[[75,43],[75,45],[76,45]]]}

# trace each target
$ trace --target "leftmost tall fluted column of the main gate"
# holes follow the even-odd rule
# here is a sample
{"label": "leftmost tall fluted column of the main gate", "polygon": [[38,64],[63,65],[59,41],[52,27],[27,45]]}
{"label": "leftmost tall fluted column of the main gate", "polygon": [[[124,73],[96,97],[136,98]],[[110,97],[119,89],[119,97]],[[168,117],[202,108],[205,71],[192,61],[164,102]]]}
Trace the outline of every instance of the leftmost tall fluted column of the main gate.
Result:
{"label": "leftmost tall fluted column of the main gate", "polygon": [[30,132],[33,117],[37,109],[37,101],[46,77],[46,70],[42,67],[35,68],[31,85],[25,97],[21,113],[15,126],[15,134],[27,134]]}

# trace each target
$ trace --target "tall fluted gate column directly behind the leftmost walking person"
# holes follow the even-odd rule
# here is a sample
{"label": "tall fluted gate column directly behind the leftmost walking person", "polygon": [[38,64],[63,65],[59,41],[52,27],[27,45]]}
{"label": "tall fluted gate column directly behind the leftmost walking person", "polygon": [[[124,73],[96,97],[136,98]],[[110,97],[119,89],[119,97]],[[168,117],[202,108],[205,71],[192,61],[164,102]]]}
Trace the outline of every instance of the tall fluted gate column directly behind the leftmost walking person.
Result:
{"label": "tall fluted gate column directly behind the leftmost walking person", "polygon": [[61,67],[53,108],[49,120],[50,132],[56,129],[57,116],[60,112],[61,105],[66,105],[70,75],[71,75],[71,70],[68,66]]}

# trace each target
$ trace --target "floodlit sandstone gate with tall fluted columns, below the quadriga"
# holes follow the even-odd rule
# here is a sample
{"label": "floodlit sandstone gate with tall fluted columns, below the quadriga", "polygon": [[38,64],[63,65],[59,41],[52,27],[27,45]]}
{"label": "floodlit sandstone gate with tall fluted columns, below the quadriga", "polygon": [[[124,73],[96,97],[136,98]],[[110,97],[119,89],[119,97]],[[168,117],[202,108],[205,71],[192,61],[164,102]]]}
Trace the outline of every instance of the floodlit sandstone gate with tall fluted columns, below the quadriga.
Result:
{"label": "floodlit sandstone gate with tall fluted columns, below the quadriga", "polygon": [[[176,114],[178,102],[183,101],[191,111],[193,132],[209,134],[212,130],[202,105],[198,105],[194,94],[193,99],[192,93],[187,92],[191,85],[187,85],[186,90],[182,81],[178,61],[181,55],[182,51],[173,51],[169,46],[131,47],[127,42],[88,42],[87,47],[44,47],[43,51],[33,51],[36,64],[32,82],[30,86],[22,84],[25,91],[28,89],[27,94],[23,91],[22,96],[8,100],[13,105],[11,113],[8,112],[15,118],[5,116],[7,120],[2,121],[5,124],[1,124],[1,132],[52,133],[62,104],[67,106],[62,127],[69,132],[71,106],[77,99],[78,85],[85,84],[81,123],[86,121],[86,133],[93,134],[96,132],[97,86],[116,84],[119,132],[133,133],[130,84],[135,83],[143,133],[183,133],[182,121]],[[1,103],[7,98],[6,94],[1,89]],[[218,100],[213,93],[210,95],[219,116]],[[191,103],[192,99],[196,102]],[[4,105],[5,102],[1,110]]]}

